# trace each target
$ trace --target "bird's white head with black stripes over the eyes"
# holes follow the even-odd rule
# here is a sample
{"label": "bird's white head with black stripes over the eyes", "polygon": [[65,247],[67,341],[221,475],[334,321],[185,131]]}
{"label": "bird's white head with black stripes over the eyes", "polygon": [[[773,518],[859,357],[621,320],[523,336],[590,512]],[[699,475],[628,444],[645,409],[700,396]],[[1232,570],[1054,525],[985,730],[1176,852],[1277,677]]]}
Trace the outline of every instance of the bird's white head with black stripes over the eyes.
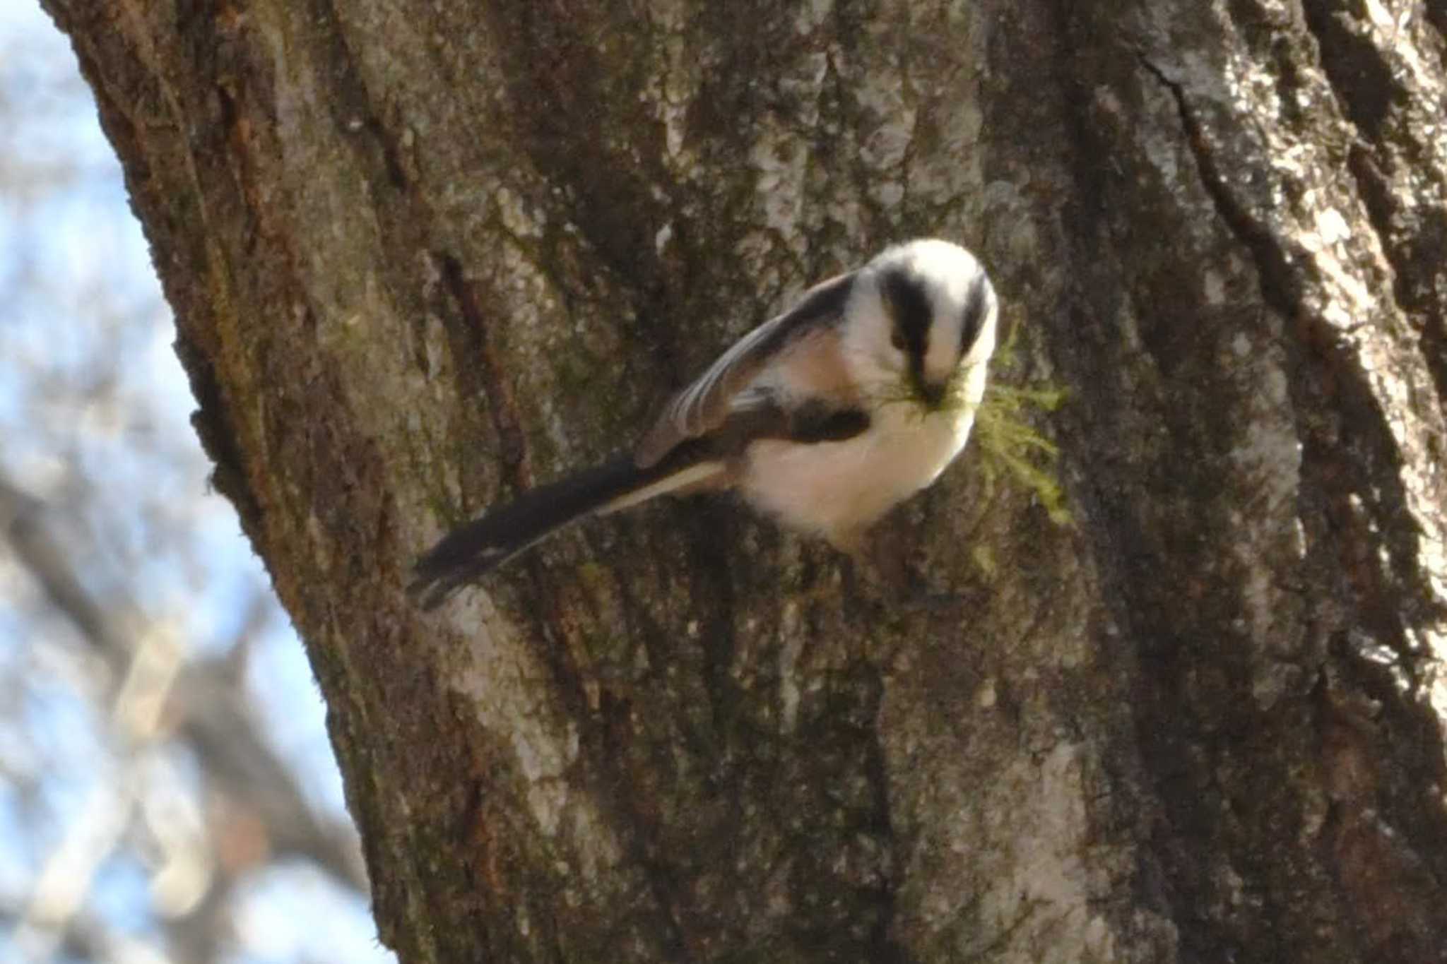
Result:
{"label": "bird's white head with black stripes over the eyes", "polygon": [[855,377],[936,409],[994,351],[998,302],[975,256],[949,241],[899,244],[865,264],[845,309]]}

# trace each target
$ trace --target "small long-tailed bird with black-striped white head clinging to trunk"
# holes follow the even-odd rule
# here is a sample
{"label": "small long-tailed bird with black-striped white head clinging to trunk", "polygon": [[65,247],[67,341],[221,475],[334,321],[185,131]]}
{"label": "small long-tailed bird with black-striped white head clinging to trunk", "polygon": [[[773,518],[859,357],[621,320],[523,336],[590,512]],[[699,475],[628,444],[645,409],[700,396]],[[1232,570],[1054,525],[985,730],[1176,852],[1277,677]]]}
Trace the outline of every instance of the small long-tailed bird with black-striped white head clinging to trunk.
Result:
{"label": "small long-tailed bird with black-striped white head clinging to trunk", "polygon": [[431,608],[583,516],[706,489],[851,549],[965,447],[997,314],[965,249],[891,247],[739,338],[632,451],[454,529],[417,562],[410,591]]}

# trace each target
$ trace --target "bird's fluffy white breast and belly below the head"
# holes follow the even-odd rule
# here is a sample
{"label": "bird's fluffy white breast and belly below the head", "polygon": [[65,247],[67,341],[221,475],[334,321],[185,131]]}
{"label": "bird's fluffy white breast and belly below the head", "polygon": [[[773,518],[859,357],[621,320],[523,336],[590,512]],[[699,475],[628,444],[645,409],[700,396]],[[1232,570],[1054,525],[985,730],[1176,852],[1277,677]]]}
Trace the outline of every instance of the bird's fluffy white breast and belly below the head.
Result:
{"label": "bird's fluffy white breast and belly below the head", "polygon": [[[980,374],[983,390],[984,366]],[[974,405],[930,415],[909,403],[886,405],[868,431],[844,442],[754,442],[739,490],[786,525],[848,546],[935,481],[965,447],[971,425]]]}

